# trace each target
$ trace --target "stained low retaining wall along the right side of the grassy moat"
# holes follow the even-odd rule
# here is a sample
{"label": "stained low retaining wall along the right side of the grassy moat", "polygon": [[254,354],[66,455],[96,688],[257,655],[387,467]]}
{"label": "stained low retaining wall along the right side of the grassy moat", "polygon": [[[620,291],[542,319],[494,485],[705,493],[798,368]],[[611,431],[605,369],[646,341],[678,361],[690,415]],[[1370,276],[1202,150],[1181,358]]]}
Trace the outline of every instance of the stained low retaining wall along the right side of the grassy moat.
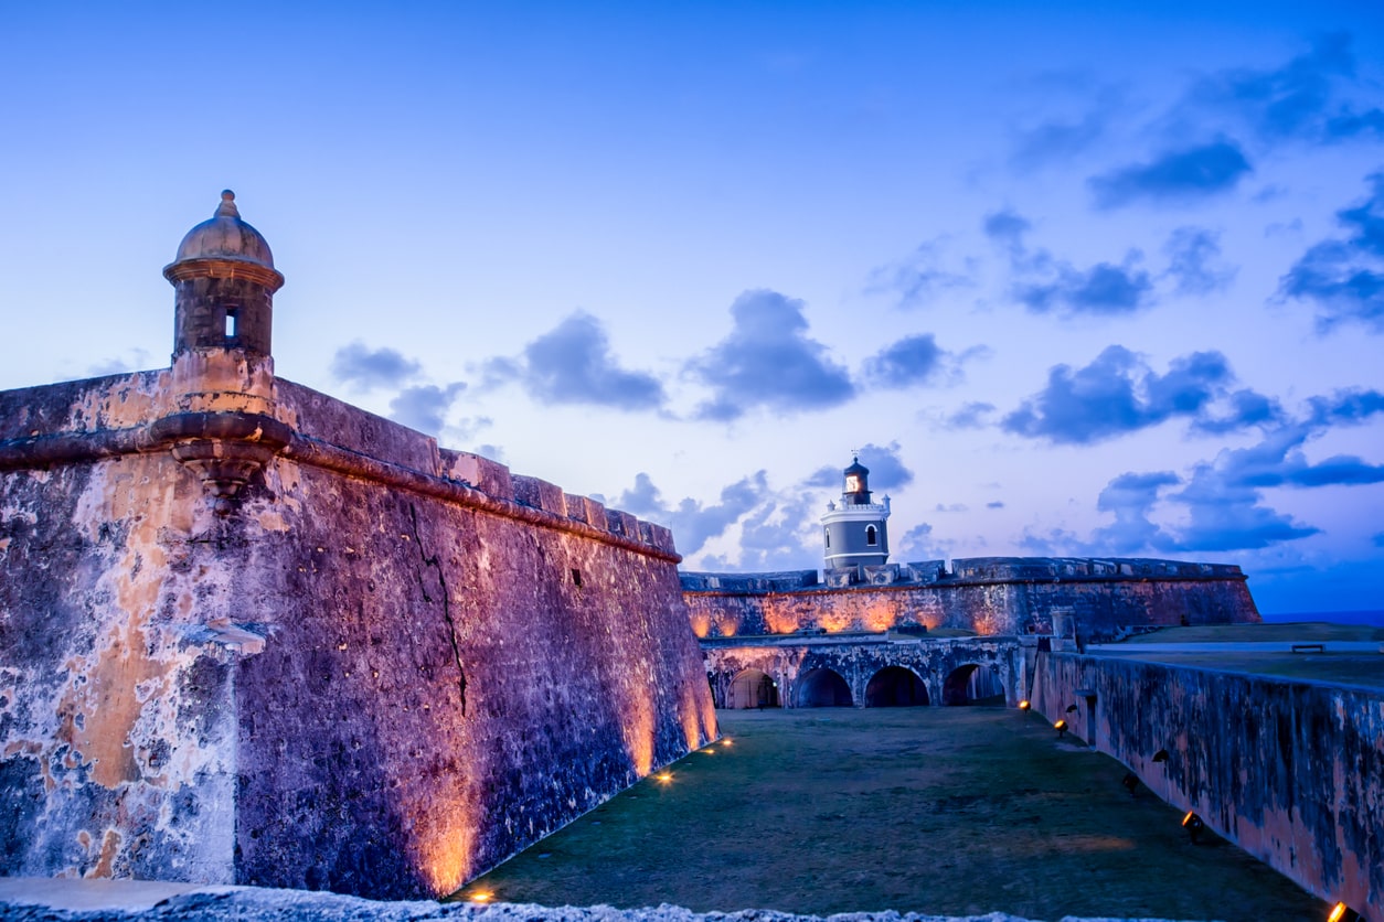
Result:
{"label": "stained low retaining wall along the right side of the grassy moat", "polygon": [[1031,699],[1305,889],[1384,919],[1384,693],[1038,654]]}

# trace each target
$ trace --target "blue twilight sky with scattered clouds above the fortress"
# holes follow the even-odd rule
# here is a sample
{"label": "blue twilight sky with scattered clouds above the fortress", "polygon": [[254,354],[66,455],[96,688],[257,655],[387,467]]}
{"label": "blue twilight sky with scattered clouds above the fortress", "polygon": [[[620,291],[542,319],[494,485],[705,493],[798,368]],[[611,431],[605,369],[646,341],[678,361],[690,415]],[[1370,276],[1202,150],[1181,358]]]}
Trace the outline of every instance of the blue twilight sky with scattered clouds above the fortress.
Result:
{"label": "blue twilight sky with scattered clouds above the fortress", "polygon": [[819,565],[859,449],[894,560],[1384,610],[1377,7],[282,6],[0,6],[0,387],[166,365],[228,187],[281,376],[689,568]]}

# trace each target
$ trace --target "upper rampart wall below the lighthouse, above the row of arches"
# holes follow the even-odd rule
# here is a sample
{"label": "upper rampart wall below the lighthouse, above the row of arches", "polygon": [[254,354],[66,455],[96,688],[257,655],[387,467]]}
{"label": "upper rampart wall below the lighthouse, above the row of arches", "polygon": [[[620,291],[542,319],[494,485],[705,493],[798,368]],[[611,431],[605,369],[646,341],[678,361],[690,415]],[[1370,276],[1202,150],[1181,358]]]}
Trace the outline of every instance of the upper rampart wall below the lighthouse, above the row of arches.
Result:
{"label": "upper rampart wall below the lighthouse, above the row of arches", "polygon": [[[1082,640],[1142,628],[1258,622],[1239,567],[1175,560],[970,557],[776,574],[684,572],[699,637],[804,630],[963,628],[978,634],[1053,633],[1068,615]],[[858,579],[858,582],[857,582]]]}

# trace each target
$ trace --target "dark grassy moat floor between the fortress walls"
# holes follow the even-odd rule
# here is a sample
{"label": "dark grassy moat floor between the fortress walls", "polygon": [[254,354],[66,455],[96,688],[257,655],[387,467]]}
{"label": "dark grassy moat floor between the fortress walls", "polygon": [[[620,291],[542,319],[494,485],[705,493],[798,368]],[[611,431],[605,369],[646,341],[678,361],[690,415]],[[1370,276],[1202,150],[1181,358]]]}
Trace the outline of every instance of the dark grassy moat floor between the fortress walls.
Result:
{"label": "dark grassy moat floor between the fortress walls", "polygon": [[[720,712],[727,740],[458,896],[826,915],[900,910],[1320,921],[1237,847],[1189,842],[1124,766],[1001,708]],[[1157,784],[1156,780],[1151,780]]]}

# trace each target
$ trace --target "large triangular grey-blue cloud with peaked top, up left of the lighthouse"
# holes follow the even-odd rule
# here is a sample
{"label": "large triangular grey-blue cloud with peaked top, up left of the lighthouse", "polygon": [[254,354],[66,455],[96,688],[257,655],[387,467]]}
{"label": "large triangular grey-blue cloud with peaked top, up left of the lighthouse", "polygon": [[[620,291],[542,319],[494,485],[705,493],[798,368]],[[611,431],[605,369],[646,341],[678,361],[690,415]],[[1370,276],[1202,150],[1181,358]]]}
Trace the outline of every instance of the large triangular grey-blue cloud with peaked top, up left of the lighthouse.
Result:
{"label": "large triangular grey-blue cloud with peaked top, up left of the lighthouse", "polygon": [[699,419],[734,420],[757,408],[826,409],[855,395],[847,370],[807,336],[803,307],[768,289],[735,299],[729,336],[688,362],[691,375],[714,393],[698,408]]}

